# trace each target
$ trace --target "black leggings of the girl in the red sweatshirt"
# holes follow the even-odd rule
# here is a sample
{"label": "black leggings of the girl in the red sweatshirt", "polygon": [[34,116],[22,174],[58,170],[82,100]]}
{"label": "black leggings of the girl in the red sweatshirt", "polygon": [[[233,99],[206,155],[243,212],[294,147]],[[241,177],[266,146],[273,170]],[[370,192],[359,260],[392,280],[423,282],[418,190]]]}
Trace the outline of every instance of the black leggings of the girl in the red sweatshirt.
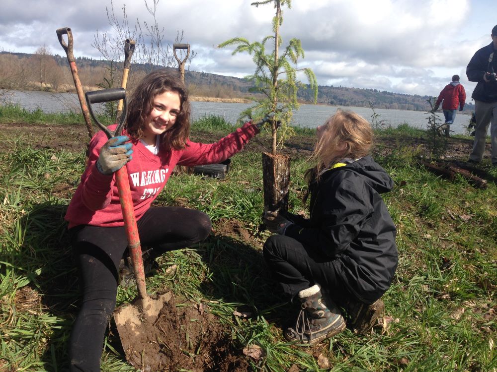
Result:
{"label": "black leggings of the girl in the red sweatshirt", "polygon": [[[177,207],[150,208],[137,221],[140,243],[152,256],[189,247],[209,236],[203,212]],[[99,372],[103,340],[116,306],[119,263],[128,246],[124,227],[76,226],[69,230],[78,266],[81,309],[71,333],[70,371]]]}

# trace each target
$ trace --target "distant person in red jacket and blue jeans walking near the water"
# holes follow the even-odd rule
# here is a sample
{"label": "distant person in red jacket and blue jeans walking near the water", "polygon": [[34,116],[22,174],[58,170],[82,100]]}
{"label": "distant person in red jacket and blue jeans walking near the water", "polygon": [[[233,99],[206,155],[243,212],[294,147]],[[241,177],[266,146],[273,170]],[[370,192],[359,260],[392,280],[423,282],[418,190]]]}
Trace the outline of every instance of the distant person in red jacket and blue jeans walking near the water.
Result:
{"label": "distant person in red jacket and blue jeans walking near the water", "polygon": [[[443,103],[442,103],[443,101]],[[450,133],[450,124],[454,123],[456,118],[457,108],[463,111],[464,103],[466,102],[466,91],[463,85],[459,82],[459,75],[452,76],[452,82],[445,85],[435,102],[434,111],[438,110],[442,103],[443,115],[445,123],[442,129],[445,130],[445,135],[448,137]]]}

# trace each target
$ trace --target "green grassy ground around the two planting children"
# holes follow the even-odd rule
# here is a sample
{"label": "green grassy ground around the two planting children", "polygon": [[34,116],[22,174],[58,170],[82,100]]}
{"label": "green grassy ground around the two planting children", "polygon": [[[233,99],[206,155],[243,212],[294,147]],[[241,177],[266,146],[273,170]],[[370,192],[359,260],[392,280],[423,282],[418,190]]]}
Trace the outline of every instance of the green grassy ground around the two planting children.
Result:
{"label": "green grassy ground around the two planting children", "polygon": [[[7,135],[1,124],[83,121],[10,110],[0,110],[0,371],[65,371],[78,286],[63,216],[83,172],[84,144],[37,146],[30,130]],[[219,118],[203,118],[192,133],[221,137],[232,129]],[[297,132],[314,135],[311,129]],[[285,342],[279,325],[289,306],[279,301],[261,255],[269,236],[258,231],[261,153],[250,146],[232,158],[223,181],[192,174],[170,178],[156,204],[202,210],[214,232],[198,246],[162,256],[162,268],[147,278],[149,292],[168,288],[203,303],[239,351],[262,349],[258,359],[241,356],[253,371],[496,372],[497,169],[482,164],[485,189],[459,176],[448,181],[418,165],[416,145],[380,151],[387,136],[414,141],[427,134],[408,125],[377,132],[374,157],[395,181],[384,199],[398,229],[400,262],[384,296],[385,314],[371,333],[345,330],[313,347]],[[291,157],[290,209],[305,211],[300,196],[307,153]],[[236,228],[230,232],[230,226]],[[135,295],[132,283],[120,286],[118,304]],[[234,316],[240,309],[251,315]],[[102,371],[134,371],[112,329]]]}

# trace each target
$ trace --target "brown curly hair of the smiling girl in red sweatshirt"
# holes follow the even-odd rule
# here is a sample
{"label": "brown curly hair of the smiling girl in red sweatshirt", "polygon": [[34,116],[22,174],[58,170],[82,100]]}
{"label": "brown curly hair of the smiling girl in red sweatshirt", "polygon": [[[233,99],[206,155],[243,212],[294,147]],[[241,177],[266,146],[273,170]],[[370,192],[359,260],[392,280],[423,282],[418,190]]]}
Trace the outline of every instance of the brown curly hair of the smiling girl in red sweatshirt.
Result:
{"label": "brown curly hair of the smiling girl in red sweatshirt", "polygon": [[154,107],[154,98],[166,91],[178,93],[181,107],[176,123],[161,135],[161,143],[168,151],[180,150],[186,146],[186,140],[190,135],[191,106],[188,91],[179,73],[159,69],[152,71],[142,79],[128,105],[126,130],[131,138],[142,138],[147,118]]}

